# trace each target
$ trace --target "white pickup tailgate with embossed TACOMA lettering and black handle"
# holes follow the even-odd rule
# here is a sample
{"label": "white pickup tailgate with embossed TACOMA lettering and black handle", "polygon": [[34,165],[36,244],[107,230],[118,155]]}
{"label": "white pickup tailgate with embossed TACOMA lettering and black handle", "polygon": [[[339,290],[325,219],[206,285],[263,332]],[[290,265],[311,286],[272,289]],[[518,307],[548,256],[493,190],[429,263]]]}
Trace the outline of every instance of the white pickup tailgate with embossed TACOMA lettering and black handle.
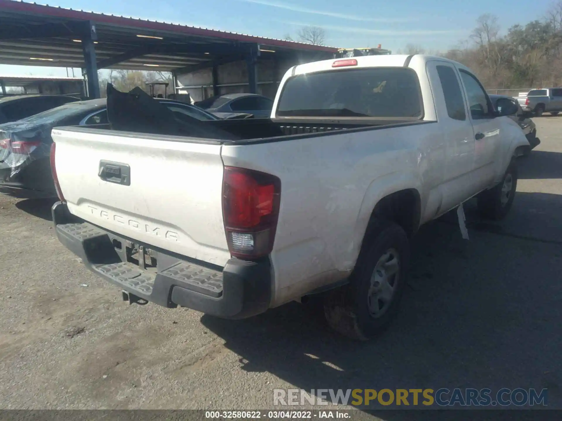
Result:
{"label": "white pickup tailgate with embossed TACOMA lettering and black handle", "polygon": [[117,234],[224,266],[218,142],[53,129],[56,169],[72,214]]}

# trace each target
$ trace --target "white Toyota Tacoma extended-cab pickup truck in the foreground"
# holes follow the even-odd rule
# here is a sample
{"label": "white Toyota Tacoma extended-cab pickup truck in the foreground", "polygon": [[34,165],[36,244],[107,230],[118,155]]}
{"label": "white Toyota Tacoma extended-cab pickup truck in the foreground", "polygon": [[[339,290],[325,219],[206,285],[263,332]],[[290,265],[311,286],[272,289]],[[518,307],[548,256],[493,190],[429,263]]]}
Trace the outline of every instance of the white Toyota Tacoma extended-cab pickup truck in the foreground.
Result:
{"label": "white Toyota Tacoma extended-cab pickup truck in the foreground", "polygon": [[53,129],[53,221],[124,299],[244,318],[322,293],[365,339],[396,313],[420,225],[473,196],[509,211],[515,112],[441,57],[298,65],[271,119],[208,123],[239,140]]}

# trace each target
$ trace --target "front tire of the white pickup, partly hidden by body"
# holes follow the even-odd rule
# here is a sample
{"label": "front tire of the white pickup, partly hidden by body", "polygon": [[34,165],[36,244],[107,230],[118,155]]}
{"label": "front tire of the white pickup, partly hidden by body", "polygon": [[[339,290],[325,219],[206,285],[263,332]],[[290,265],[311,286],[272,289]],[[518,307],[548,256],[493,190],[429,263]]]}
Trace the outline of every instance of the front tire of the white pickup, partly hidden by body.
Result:
{"label": "front tire of the white pickup, partly hidden by body", "polygon": [[478,211],[486,219],[499,221],[506,217],[517,189],[517,166],[511,161],[500,183],[478,195]]}

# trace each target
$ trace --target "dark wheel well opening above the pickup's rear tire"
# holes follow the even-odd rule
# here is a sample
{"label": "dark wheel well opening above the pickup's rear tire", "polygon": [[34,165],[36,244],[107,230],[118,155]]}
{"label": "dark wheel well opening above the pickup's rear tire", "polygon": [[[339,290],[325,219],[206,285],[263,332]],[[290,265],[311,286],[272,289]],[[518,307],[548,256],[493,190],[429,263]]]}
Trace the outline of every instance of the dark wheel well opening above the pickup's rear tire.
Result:
{"label": "dark wheel well opening above the pickup's rear tire", "polygon": [[385,220],[397,223],[411,237],[418,230],[421,214],[420,195],[416,189],[396,191],[380,199],[369,219],[365,238],[376,221]]}

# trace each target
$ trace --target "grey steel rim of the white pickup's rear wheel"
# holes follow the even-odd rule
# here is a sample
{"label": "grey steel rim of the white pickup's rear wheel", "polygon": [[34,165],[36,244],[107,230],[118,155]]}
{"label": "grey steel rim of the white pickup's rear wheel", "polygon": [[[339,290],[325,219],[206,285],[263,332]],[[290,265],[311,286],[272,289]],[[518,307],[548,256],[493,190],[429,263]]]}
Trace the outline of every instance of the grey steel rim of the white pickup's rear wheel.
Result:
{"label": "grey steel rim of the white pickup's rear wheel", "polygon": [[369,314],[379,318],[387,312],[396,293],[397,281],[400,276],[400,255],[395,249],[388,249],[379,258],[367,295]]}

